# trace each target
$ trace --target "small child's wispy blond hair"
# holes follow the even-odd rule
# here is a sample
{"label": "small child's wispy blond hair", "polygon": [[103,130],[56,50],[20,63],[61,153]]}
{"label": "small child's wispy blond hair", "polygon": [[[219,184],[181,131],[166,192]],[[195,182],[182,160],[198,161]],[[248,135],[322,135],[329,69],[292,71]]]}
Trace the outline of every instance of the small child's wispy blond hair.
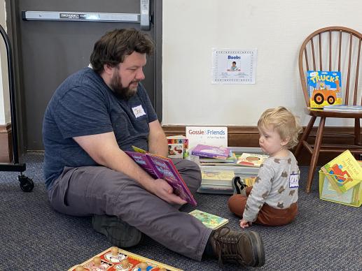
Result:
{"label": "small child's wispy blond hair", "polygon": [[283,106],[270,108],[263,112],[258,121],[258,129],[266,128],[277,131],[281,140],[289,138],[286,144],[288,149],[298,144],[298,134],[302,131],[298,117],[295,117],[291,111]]}

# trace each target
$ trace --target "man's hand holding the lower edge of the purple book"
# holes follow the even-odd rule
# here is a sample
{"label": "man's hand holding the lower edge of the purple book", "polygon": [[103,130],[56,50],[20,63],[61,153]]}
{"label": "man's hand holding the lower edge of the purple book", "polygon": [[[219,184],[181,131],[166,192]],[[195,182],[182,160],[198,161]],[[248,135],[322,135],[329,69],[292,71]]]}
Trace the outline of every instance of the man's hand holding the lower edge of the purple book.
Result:
{"label": "man's hand holding the lower edge of the purple book", "polygon": [[152,185],[148,186],[148,191],[170,204],[183,205],[186,203],[186,200],[183,200],[173,193],[174,189],[172,189],[172,186],[163,179],[154,180]]}

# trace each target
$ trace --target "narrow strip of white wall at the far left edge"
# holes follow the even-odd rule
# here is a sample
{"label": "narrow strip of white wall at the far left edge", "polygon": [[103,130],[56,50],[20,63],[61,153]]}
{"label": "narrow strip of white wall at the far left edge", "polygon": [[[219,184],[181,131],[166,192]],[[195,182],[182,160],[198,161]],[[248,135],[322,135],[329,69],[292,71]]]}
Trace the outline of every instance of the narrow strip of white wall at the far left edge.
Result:
{"label": "narrow strip of white wall at the far left edge", "polygon": [[[0,24],[6,31],[5,1],[0,1]],[[0,125],[11,122],[6,47],[0,35]]]}

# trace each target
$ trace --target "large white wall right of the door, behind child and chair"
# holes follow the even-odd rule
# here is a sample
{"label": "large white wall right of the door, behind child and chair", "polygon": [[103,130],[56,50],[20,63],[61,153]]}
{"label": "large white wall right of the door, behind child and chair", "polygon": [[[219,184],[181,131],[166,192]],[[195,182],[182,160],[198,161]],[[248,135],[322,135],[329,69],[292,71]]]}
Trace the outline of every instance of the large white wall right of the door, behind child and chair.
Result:
{"label": "large white wall right of the door, behind child and chair", "polygon": [[[361,0],[163,0],[162,9],[162,124],[256,126],[263,110],[284,105],[306,125],[302,41],[333,25],[362,31]],[[256,48],[256,84],[211,84],[213,47]]]}

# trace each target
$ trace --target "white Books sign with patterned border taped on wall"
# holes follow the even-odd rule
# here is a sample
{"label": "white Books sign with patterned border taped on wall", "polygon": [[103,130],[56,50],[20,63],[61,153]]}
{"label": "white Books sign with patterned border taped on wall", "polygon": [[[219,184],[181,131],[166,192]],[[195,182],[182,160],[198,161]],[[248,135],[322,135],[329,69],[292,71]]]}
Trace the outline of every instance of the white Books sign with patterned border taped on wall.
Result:
{"label": "white Books sign with patterned border taped on wall", "polygon": [[213,49],[213,84],[255,84],[257,50]]}

